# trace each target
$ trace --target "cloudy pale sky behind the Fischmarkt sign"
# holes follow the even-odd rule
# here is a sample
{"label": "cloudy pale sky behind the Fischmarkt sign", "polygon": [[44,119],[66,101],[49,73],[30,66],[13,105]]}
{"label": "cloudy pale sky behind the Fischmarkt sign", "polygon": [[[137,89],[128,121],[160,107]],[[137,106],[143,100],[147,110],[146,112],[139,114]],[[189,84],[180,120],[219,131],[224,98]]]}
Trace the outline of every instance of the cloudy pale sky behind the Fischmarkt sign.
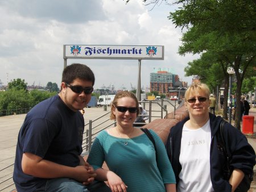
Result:
{"label": "cloudy pale sky behind the Fischmarkt sign", "polygon": [[[164,60],[142,60],[141,85],[149,87],[154,68],[171,68],[190,84],[184,67],[198,56],[177,54],[181,30],[167,18],[176,7],[151,7],[142,0],[1,0],[0,80],[60,85],[64,44],[164,45]],[[73,62],[93,70],[96,88],[137,86],[137,60],[68,60],[68,65]]]}

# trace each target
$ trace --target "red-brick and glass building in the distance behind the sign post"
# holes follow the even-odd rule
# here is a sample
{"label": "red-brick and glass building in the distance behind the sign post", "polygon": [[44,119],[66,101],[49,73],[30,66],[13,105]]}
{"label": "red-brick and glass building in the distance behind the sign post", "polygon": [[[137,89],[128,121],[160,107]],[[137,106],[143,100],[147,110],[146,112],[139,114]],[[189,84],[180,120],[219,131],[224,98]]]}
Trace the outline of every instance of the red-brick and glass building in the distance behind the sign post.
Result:
{"label": "red-brick and glass building in the distance behind the sign post", "polygon": [[179,89],[187,87],[187,85],[187,82],[179,80],[177,74],[167,70],[159,69],[155,73],[150,73],[150,91],[158,91],[159,94],[164,94],[166,97],[178,95],[180,93]]}

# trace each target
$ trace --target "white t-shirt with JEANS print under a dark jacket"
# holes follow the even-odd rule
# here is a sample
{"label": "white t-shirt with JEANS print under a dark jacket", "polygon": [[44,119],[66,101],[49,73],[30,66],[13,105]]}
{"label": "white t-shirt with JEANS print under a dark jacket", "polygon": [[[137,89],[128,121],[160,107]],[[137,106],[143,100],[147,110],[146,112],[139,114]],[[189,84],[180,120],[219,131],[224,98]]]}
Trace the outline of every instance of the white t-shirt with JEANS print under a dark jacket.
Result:
{"label": "white t-shirt with JEANS print under a dark jacket", "polygon": [[201,128],[183,126],[177,192],[212,192],[210,181],[210,120]]}

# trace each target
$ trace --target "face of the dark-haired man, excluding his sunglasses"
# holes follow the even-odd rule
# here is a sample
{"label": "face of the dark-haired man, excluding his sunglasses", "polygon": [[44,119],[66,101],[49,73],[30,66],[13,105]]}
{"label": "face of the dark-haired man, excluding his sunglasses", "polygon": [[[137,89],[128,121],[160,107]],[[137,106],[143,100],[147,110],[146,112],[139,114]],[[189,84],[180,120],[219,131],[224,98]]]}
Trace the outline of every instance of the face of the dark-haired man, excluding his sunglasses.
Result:
{"label": "face of the dark-haired man, excluding his sunglasses", "polygon": [[[91,81],[84,81],[76,78],[70,84],[71,86],[78,85],[82,87],[92,87]],[[82,108],[86,107],[89,103],[90,98],[92,97],[92,93],[85,94],[84,91],[82,93],[75,93],[71,90],[71,87],[65,85],[64,82],[61,83],[61,99],[63,102],[73,111],[81,110]]]}

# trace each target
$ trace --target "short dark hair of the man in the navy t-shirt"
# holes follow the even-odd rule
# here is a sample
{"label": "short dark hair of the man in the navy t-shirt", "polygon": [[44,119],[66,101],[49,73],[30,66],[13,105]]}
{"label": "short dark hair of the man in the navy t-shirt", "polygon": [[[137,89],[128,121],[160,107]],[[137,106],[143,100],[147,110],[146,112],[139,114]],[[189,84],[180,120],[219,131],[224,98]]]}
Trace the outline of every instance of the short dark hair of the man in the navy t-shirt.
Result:
{"label": "short dark hair of the man in the navy t-shirt", "polygon": [[91,81],[94,85],[95,78],[92,70],[83,64],[71,64],[68,65],[62,73],[61,82],[71,84],[76,78],[80,78],[84,81]]}

